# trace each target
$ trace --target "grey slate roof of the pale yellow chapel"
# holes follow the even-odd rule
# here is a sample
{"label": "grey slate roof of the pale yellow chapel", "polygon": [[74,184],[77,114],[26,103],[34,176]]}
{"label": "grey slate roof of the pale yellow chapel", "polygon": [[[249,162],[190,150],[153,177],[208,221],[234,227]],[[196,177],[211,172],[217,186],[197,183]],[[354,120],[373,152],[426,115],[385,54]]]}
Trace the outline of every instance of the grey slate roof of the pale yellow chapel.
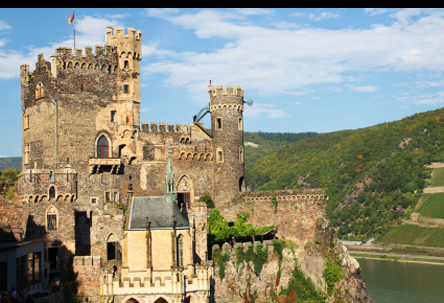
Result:
{"label": "grey slate roof of the pale yellow chapel", "polygon": [[172,229],[173,213],[176,229],[190,227],[177,203],[167,202],[166,196],[133,197],[129,230],[146,230],[146,217],[151,222],[150,229]]}

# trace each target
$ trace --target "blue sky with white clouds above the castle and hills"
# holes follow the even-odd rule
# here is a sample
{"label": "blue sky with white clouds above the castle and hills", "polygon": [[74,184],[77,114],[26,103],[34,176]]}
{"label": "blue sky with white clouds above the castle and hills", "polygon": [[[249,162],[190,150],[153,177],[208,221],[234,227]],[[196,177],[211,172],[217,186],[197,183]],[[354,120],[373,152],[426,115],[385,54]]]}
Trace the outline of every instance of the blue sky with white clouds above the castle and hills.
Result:
{"label": "blue sky with white clouds above the castle and hills", "polygon": [[[21,64],[73,47],[72,9],[0,10],[0,157],[21,155]],[[192,123],[239,85],[246,131],[332,132],[444,103],[444,10],[75,9],[76,47],[142,32],[141,121]],[[209,117],[204,123],[209,127]]]}

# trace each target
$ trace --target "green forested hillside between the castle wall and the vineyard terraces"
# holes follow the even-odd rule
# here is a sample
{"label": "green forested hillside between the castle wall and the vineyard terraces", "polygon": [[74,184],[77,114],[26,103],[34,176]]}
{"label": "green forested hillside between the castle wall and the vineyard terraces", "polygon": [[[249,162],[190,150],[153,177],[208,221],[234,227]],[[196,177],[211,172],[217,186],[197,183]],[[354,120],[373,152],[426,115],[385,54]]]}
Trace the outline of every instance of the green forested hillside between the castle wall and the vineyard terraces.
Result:
{"label": "green forested hillside between the castle wall and the vineyard terraces", "polygon": [[381,235],[412,212],[430,178],[425,165],[444,161],[443,139],[439,109],[288,144],[247,162],[246,176],[254,190],[326,188],[339,237]]}

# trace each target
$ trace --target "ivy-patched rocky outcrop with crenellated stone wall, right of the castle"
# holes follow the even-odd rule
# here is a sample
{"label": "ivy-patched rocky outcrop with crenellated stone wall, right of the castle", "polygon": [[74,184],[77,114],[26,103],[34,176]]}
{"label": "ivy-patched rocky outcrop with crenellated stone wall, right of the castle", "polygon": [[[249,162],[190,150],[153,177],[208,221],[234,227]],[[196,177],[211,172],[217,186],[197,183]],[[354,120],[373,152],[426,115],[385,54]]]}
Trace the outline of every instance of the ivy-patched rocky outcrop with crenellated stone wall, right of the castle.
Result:
{"label": "ivy-patched rocky outcrop with crenellated stone wall, right of the castle", "polygon": [[359,263],[338,241],[322,200],[295,195],[275,207],[269,199],[282,191],[264,193],[262,201],[220,209],[226,218],[248,209],[255,226],[276,225],[277,239],[213,246],[215,301],[372,302]]}

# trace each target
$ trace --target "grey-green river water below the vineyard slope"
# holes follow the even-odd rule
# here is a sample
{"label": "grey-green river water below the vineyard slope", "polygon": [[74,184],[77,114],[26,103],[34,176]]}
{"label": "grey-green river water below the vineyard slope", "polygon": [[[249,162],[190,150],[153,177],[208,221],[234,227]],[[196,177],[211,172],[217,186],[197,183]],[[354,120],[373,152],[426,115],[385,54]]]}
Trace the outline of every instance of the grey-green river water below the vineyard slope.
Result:
{"label": "grey-green river water below the vineyard slope", "polygon": [[373,303],[444,302],[444,265],[356,260]]}

